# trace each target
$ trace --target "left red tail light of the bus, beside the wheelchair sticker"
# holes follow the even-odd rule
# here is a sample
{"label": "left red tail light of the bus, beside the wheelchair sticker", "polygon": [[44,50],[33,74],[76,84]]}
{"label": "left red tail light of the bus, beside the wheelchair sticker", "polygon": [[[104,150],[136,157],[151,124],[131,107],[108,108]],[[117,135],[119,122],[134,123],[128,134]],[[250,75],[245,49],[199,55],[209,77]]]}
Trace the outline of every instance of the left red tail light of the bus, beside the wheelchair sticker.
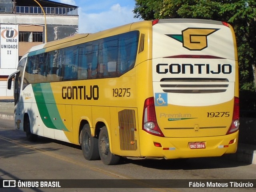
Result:
{"label": "left red tail light of the bus, beside the wheelchair sticker", "polygon": [[158,127],[158,124],[156,121],[154,97],[150,97],[145,100],[144,110],[143,110],[142,129],[152,135],[164,137],[164,134]]}

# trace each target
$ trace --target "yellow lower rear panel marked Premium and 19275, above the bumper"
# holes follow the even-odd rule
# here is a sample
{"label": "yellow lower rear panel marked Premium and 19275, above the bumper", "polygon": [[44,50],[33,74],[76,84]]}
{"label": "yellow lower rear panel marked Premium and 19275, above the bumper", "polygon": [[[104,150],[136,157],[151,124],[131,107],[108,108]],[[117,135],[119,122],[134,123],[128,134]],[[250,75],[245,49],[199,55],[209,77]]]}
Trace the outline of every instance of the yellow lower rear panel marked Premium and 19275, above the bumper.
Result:
{"label": "yellow lower rear panel marked Premium and 19275, above the bumper", "polygon": [[158,125],[165,137],[226,135],[232,122],[233,104],[232,99],[226,103],[212,105],[210,108],[177,105],[156,107]]}

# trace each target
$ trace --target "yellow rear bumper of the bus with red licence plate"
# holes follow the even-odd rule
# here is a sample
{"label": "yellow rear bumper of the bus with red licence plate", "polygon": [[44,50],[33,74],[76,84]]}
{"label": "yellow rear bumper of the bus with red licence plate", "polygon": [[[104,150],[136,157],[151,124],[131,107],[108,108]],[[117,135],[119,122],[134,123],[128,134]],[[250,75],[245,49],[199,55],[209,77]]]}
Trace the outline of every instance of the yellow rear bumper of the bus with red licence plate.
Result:
{"label": "yellow rear bumper of the bus with red licence plate", "polygon": [[[142,134],[144,135],[144,133]],[[168,138],[147,134],[141,138],[145,138],[140,141],[141,156],[148,158],[174,159],[222,156],[223,154],[235,153],[238,146],[238,131],[230,135],[215,137]],[[201,148],[190,148],[191,143],[198,143]]]}

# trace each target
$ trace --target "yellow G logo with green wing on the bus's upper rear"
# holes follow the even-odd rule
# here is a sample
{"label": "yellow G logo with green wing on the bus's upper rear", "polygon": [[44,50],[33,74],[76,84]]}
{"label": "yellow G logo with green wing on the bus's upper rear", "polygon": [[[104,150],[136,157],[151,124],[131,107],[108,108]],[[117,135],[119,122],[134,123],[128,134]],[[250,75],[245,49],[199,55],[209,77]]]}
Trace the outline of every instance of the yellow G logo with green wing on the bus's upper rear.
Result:
{"label": "yellow G logo with green wing on the bus's upper rear", "polygon": [[181,35],[166,34],[166,36],[181,42],[183,47],[190,51],[201,51],[208,46],[207,36],[218,30],[212,28],[186,28],[182,31]]}

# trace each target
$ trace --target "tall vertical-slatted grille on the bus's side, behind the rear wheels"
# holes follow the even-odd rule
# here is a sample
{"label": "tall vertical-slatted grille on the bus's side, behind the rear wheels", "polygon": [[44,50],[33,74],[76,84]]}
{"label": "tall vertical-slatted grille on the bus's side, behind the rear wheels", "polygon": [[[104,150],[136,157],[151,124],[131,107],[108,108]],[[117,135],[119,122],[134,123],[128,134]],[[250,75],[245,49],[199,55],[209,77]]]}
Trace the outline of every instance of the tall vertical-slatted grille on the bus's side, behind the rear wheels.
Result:
{"label": "tall vertical-slatted grille on the bus's side, behind the rear wheels", "polygon": [[137,150],[135,111],[124,109],[118,112],[120,150]]}

